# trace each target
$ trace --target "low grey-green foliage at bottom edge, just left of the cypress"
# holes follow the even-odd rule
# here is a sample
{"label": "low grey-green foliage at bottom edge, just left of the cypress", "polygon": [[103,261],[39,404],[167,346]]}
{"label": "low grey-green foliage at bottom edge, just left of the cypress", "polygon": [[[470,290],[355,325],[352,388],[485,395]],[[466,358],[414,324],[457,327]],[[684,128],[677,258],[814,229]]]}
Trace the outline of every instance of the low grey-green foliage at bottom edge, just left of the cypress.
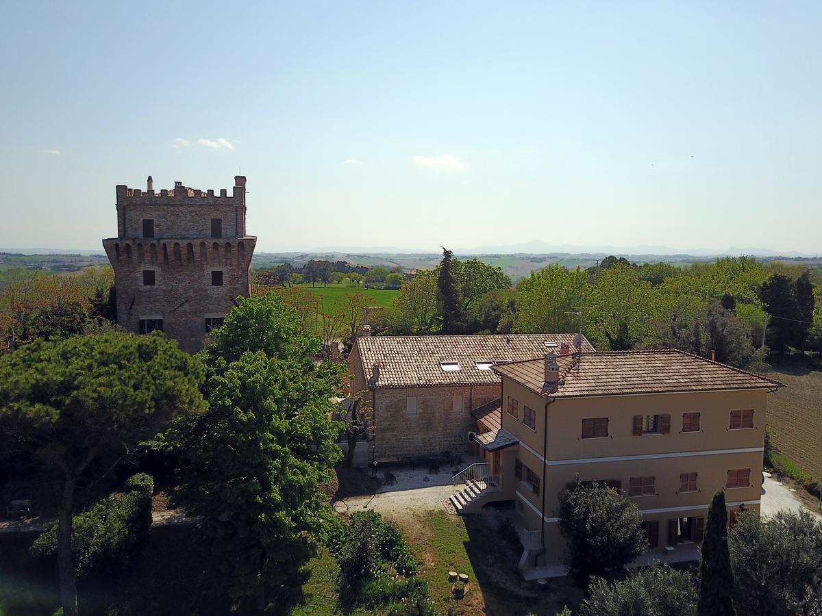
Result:
{"label": "low grey-green foliage at bottom edge, just left of the cypress", "polygon": [[595,577],[588,597],[580,605],[580,616],[695,616],[693,577],[667,565],[637,569],[608,584]]}

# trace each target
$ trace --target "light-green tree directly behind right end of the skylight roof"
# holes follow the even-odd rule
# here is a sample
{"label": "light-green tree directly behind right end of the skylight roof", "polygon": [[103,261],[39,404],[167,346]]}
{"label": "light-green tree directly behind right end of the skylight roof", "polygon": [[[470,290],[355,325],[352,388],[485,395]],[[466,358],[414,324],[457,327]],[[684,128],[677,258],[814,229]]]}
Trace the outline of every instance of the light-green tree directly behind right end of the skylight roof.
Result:
{"label": "light-green tree directly behind right end of the skylight roof", "polygon": [[524,333],[569,332],[579,326],[570,314],[582,306],[588,276],[561,265],[531,272],[517,286],[516,330]]}

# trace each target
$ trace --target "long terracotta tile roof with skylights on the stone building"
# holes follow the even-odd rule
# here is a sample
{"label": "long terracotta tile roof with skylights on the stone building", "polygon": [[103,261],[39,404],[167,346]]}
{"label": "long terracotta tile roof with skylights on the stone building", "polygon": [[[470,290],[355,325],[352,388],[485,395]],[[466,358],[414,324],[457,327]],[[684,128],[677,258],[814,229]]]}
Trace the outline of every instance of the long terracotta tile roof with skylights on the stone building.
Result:
{"label": "long terracotta tile roof with skylights on the stone building", "polygon": [[[472,336],[361,336],[354,344],[369,387],[432,387],[492,385],[500,382],[493,362],[542,357],[547,342],[566,342],[573,350],[573,333],[505,333]],[[583,352],[593,347],[584,337]],[[482,370],[476,362],[489,362]],[[454,362],[459,370],[443,370]],[[379,365],[376,379],[373,365]],[[447,365],[445,366],[447,369]]]}

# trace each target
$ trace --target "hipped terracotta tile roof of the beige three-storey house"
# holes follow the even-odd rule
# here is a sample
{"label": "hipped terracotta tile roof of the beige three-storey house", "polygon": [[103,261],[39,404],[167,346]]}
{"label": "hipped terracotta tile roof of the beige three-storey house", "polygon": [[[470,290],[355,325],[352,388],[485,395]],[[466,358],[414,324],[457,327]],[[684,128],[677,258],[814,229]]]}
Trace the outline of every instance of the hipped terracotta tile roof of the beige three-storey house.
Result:
{"label": "hipped terracotta tile roof of the beige three-storey house", "polygon": [[560,379],[545,387],[544,360],[496,365],[494,372],[543,398],[784,387],[782,383],[676,349],[582,353],[556,358]]}

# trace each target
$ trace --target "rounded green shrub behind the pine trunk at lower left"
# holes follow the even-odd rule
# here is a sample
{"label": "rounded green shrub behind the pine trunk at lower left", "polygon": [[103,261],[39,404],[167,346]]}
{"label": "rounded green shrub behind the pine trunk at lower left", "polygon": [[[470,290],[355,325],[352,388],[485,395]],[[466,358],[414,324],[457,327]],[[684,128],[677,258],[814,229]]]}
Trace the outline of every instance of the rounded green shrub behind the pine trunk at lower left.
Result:
{"label": "rounded green shrub behind the pine trunk at lower left", "polygon": [[[118,571],[140,549],[151,527],[151,491],[154,481],[139,474],[129,478],[126,494],[114,494],[97,501],[74,516],[72,558],[78,577],[94,571]],[[32,556],[54,559],[57,553],[57,522],[53,522],[31,545]]]}

